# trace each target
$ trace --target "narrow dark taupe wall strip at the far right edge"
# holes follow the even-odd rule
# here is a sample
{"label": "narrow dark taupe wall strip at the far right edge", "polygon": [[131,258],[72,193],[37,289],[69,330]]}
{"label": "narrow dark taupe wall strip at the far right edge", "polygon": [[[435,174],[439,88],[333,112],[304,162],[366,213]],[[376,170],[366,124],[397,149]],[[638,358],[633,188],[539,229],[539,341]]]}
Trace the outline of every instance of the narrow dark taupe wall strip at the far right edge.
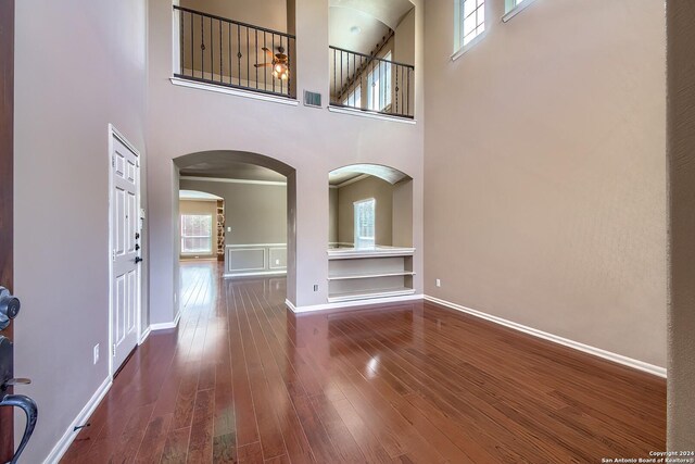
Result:
{"label": "narrow dark taupe wall strip at the far right edge", "polygon": [[668,449],[695,450],[695,4],[668,2]]}

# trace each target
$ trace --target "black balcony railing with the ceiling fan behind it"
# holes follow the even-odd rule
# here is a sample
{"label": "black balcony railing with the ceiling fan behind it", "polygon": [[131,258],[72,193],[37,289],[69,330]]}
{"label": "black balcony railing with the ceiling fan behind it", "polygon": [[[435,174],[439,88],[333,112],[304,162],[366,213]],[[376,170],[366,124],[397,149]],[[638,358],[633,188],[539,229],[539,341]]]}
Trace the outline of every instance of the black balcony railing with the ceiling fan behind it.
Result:
{"label": "black balcony railing with the ceiling fan behind it", "polygon": [[174,12],[176,77],[295,97],[294,36],[182,7]]}

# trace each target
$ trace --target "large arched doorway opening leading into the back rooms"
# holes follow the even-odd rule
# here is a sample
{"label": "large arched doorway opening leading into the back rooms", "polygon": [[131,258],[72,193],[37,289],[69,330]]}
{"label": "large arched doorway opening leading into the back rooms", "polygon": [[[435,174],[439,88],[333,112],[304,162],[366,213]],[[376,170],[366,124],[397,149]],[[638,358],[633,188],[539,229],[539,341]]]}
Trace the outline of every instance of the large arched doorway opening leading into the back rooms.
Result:
{"label": "large arched doorway opening leading into the back rooms", "polygon": [[294,170],[239,151],[192,153],[175,163],[178,311],[197,304],[191,288],[203,275],[223,287],[256,279],[293,298]]}

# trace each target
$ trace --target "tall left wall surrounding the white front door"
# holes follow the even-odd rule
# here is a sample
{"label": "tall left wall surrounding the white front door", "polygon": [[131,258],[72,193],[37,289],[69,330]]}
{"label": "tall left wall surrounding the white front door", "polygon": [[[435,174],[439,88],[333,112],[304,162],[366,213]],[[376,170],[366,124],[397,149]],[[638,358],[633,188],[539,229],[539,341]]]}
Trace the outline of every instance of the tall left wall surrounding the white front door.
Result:
{"label": "tall left wall surrounding the white front door", "polygon": [[15,373],[33,383],[15,392],[39,405],[23,463],[48,456],[109,376],[108,125],[147,183],[146,14],[143,0],[16,2]]}

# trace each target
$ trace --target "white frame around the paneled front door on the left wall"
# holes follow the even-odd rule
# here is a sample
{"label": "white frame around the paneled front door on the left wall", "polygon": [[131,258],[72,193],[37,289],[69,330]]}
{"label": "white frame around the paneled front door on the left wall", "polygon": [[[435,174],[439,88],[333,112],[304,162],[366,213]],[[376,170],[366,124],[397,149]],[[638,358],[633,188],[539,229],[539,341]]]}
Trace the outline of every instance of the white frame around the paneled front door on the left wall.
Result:
{"label": "white frame around the paneled front door on the left wall", "polygon": [[[113,155],[114,145],[113,139],[117,138],[121,143],[126,146],[128,150],[132,151],[135,155],[140,161],[140,166],[142,166],[142,156],[140,152],[126,139],[123,134],[121,134],[113,124],[109,123],[109,250],[108,250],[108,259],[109,259],[109,347],[106,347],[106,355],[109,356],[109,377],[113,380],[113,375],[115,374],[115,368],[113,365],[113,163],[111,156]],[[136,211],[138,212],[138,216],[140,215],[140,197],[142,195],[141,184],[140,184],[140,168],[138,168],[138,200],[136,205]],[[142,223],[138,218],[138,228],[140,230],[140,237],[142,237]],[[138,269],[138,296],[136,298],[136,330],[138,331],[138,344],[140,344],[141,339],[141,323],[142,323],[142,271],[141,266]]]}

